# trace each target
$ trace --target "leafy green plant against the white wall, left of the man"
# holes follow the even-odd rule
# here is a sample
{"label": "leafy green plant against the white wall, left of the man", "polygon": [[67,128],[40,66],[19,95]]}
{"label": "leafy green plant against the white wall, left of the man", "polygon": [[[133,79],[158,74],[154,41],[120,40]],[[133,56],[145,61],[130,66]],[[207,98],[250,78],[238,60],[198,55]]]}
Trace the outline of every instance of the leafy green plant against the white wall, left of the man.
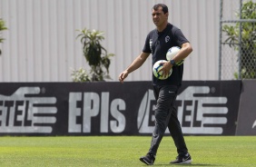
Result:
{"label": "leafy green plant against the white wall, left of the man", "polygon": [[[80,38],[83,44],[83,54],[86,62],[91,67],[90,74],[80,68],[73,71],[74,82],[85,81],[104,81],[104,79],[111,79],[109,76],[109,66],[111,64],[110,58],[114,54],[107,54],[106,49],[101,44],[104,39],[103,32],[96,30],[77,30],[80,34],[76,38]],[[76,77],[75,77],[76,76]],[[83,78],[79,80],[79,78]],[[76,81],[75,81],[76,80]]]}

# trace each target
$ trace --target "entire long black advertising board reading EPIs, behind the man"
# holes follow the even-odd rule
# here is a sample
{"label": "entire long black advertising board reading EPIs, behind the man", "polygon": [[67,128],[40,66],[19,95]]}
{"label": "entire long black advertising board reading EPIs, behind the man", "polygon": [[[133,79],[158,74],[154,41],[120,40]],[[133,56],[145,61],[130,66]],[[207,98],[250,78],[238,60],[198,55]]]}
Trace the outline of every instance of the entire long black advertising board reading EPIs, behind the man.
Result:
{"label": "entire long black advertising board reading EPIs, behind the man", "polygon": [[[239,81],[185,81],[184,134],[234,135]],[[151,82],[0,83],[0,135],[151,135]]]}

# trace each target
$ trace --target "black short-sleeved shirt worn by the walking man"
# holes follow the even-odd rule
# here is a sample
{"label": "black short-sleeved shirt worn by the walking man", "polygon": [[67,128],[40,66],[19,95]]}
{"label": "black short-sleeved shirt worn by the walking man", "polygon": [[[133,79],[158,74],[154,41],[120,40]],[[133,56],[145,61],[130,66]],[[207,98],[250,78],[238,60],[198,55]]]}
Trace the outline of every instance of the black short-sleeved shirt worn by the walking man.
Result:
{"label": "black short-sleeved shirt worn by the walking man", "polygon": [[[151,31],[146,38],[143,53],[153,55],[153,64],[159,60],[166,60],[166,53],[172,46],[182,47],[189,41],[182,31],[174,25],[168,24],[162,32],[157,29]],[[182,84],[183,64],[172,67],[172,74],[166,80],[159,80],[153,75],[153,85],[177,85]]]}

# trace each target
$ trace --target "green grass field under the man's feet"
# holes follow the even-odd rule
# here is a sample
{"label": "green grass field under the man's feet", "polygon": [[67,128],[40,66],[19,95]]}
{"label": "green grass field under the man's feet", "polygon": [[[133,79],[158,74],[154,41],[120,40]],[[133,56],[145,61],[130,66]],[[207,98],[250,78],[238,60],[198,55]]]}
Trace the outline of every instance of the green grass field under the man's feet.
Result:
{"label": "green grass field under the man's feet", "polygon": [[[185,136],[193,162],[179,166],[256,166],[256,136]],[[150,136],[0,137],[0,166],[146,166]],[[176,157],[164,136],[155,166]]]}

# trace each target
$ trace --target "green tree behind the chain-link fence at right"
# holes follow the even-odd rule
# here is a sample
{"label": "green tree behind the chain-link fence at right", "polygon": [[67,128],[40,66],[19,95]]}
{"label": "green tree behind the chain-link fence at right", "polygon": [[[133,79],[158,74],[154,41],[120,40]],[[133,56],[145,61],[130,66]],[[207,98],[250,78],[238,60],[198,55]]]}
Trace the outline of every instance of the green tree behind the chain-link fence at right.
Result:
{"label": "green tree behind the chain-link fence at right", "polygon": [[[241,19],[256,19],[256,3],[249,1],[241,6],[241,14],[236,13]],[[241,25],[240,25],[241,24]],[[224,44],[229,44],[235,51],[239,51],[239,74],[234,74],[237,79],[256,78],[256,23],[244,22],[235,25],[224,25],[222,31],[228,38]],[[241,31],[241,33],[240,33]],[[241,38],[240,38],[241,34]]]}

